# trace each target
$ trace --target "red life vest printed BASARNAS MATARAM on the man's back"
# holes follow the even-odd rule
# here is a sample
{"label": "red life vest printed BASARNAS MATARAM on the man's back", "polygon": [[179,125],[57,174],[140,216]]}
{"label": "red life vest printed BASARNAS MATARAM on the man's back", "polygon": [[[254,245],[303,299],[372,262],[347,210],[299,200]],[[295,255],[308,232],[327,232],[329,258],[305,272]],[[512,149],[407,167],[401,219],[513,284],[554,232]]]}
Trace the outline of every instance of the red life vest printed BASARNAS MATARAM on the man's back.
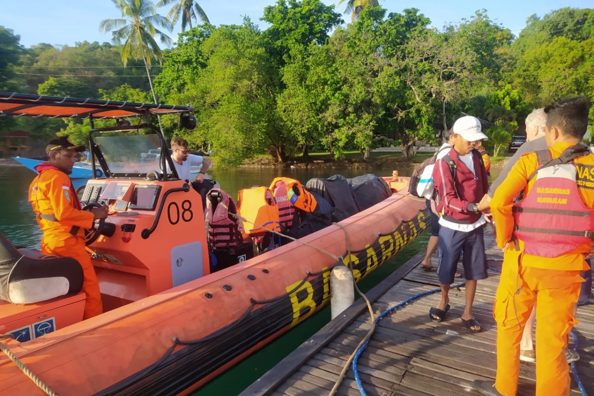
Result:
{"label": "red life vest printed BASARNAS MATARAM on the man's back", "polygon": [[594,210],[584,204],[577,187],[571,160],[579,155],[574,154],[569,160],[552,160],[549,150],[536,152],[539,167],[528,179],[536,176],[536,181],[523,201],[513,207],[514,236],[523,240],[526,254],[558,257],[592,242]]}

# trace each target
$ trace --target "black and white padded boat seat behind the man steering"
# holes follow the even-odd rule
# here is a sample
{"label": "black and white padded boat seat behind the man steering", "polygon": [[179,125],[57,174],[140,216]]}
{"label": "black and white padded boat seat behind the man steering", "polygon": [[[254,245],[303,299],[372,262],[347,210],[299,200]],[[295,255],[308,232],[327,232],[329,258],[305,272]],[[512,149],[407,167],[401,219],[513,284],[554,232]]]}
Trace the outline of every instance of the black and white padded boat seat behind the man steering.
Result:
{"label": "black and white padded boat seat behind the man steering", "polygon": [[83,288],[83,267],[74,258],[23,250],[27,255],[0,233],[0,299],[31,304],[78,293]]}

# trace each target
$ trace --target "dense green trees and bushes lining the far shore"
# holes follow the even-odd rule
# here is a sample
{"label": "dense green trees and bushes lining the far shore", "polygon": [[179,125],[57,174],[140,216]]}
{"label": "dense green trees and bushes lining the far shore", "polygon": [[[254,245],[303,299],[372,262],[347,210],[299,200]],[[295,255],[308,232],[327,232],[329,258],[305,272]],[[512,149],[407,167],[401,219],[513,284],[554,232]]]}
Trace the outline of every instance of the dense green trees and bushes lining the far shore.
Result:
{"label": "dense green trees and bushes lining the far shore", "polygon": [[[485,148],[493,154],[507,148],[513,134],[524,134],[532,109],[563,96],[594,102],[592,8],[534,14],[517,33],[486,9],[435,28],[417,8],[388,12],[365,2],[343,15],[321,0],[270,0],[260,18],[266,27],[247,17],[219,26],[192,20],[175,40],[166,36],[174,20],[128,15],[132,8],[124,5],[131,1],[113,8],[121,19],[101,23],[104,43],[80,37],[75,46],[24,47],[16,26],[0,26],[0,90],[189,104],[196,128],[187,131],[179,117],[163,116],[166,137],[181,135],[191,148],[208,147],[217,167],[231,168],[416,163],[423,156],[415,157],[415,147],[439,144],[465,114],[482,120]],[[155,10],[152,0],[138,1]],[[155,20],[165,30],[154,30]],[[161,50],[157,36],[173,46]],[[594,124],[594,107],[589,121]],[[2,117],[0,157],[14,149],[10,136],[2,139],[10,131],[29,135],[20,147],[56,134],[85,144],[90,123]],[[402,154],[371,156],[388,145]],[[334,159],[314,154],[320,151]]]}

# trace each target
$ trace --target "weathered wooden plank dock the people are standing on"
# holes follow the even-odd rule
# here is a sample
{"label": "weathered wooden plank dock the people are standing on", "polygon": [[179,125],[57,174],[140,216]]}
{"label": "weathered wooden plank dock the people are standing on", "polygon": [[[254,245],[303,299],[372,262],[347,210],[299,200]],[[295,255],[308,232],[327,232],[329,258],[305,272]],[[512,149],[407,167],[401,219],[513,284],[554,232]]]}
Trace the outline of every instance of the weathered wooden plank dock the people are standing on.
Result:
{"label": "weathered wooden plank dock the people are standing on", "polygon": [[[502,254],[494,238],[485,232],[489,278],[479,281],[474,313],[483,332],[470,334],[460,316],[464,290],[450,290],[451,310],[441,323],[429,320],[429,308],[440,294],[409,303],[381,319],[359,358],[358,370],[368,395],[479,395],[474,379],[495,378],[496,326],[492,302],[499,281]],[[375,315],[407,297],[435,289],[437,274],[421,270],[424,252],[419,253],[390,277],[367,293]],[[434,255],[437,267],[437,254]],[[462,265],[460,265],[460,269]],[[586,391],[594,395],[594,310],[592,303],[578,309],[580,324],[574,328],[579,338],[577,370]],[[329,322],[317,334],[274,366],[241,395],[326,395],[356,346],[370,328],[369,313],[362,299],[343,315]],[[349,368],[339,395],[360,395]],[[571,395],[579,396],[571,381]],[[520,364],[518,395],[535,394],[535,365]]]}

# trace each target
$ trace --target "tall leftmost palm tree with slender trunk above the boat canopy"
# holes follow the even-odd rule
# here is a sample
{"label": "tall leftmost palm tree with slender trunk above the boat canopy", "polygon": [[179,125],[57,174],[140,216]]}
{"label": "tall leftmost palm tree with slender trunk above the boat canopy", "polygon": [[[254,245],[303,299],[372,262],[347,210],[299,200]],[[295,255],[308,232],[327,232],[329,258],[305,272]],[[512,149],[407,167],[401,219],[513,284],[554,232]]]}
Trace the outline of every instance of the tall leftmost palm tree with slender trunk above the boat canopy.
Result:
{"label": "tall leftmost palm tree with slender trunk above the boat canopy", "polygon": [[165,27],[169,31],[173,26],[167,18],[156,13],[153,2],[150,0],[112,0],[112,2],[122,11],[122,18],[103,20],[99,24],[99,30],[102,33],[111,31],[112,40],[116,44],[124,41],[120,50],[124,66],[128,63],[130,56],[142,56],[154,103],[157,103],[149,68],[152,56],[160,61],[163,55],[154,36],[158,35],[161,43],[164,44],[170,44],[172,41],[167,34],[155,26]]}

